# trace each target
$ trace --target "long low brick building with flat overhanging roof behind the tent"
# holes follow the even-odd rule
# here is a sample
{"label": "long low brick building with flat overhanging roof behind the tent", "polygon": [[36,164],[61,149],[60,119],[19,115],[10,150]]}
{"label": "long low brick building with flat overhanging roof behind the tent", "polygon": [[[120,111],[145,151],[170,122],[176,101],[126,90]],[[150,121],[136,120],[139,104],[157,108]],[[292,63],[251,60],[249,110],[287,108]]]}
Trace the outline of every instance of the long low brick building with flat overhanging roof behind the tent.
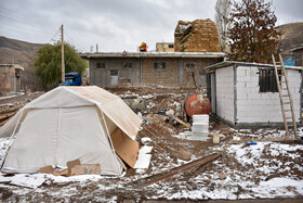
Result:
{"label": "long low brick building with flat overhanging roof behind the tent", "polygon": [[90,85],[98,87],[206,87],[205,67],[223,61],[222,52],[82,53],[90,62]]}

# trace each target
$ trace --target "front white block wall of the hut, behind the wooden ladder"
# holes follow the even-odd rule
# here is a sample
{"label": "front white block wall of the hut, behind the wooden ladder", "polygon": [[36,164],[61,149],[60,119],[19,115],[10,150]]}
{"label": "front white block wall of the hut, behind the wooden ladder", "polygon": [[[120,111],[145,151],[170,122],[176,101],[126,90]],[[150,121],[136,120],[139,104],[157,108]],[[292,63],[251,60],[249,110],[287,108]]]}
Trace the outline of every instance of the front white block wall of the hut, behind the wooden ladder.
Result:
{"label": "front white block wall of the hut, behind the wooden ladder", "polygon": [[[236,81],[236,123],[282,123],[278,92],[259,92],[258,66],[238,66]],[[288,69],[290,89],[293,97],[295,119],[300,122],[301,74]]]}

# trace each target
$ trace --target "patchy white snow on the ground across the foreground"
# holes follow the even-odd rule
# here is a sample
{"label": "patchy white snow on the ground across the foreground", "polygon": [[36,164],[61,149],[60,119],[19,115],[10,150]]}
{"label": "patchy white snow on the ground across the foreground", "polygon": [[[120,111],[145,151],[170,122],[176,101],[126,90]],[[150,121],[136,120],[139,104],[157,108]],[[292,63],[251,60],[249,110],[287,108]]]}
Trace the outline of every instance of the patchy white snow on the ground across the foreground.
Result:
{"label": "patchy white snow on the ground across the foreground", "polygon": [[[235,134],[252,134],[249,129],[234,131]],[[276,132],[276,130],[262,129],[259,132],[274,131]],[[302,128],[300,128],[300,134],[302,136]],[[190,140],[190,131],[184,131],[173,137]],[[148,137],[143,138],[142,141],[146,144],[153,142]],[[9,139],[0,139],[0,158],[4,156],[8,144]],[[144,145],[141,150],[143,154],[152,152],[152,148],[148,145]],[[223,153],[222,158],[214,161],[212,167],[189,179],[183,179],[182,175],[177,175],[175,181],[160,181],[150,185],[142,188],[142,193],[149,200],[239,200],[303,195],[302,144],[258,142],[256,145],[243,147],[243,144],[222,143],[210,147],[210,150]],[[173,163],[171,157],[168,156],[167,160]],[[181,164],[184,162],[177,161],[173,167]],[[149,169],[164,172],[169,168],[168,166],[150,165]],[[226,178],[220,179],[220,173],[225,174]],[[136,174],[132,178],[97,175],[62,177],[44,174],[19,174],[6,177],[0,174],[0,189],[10,190],[21,196],[41,198],[47,195],[67,200],[73,200],[71,198],[77,196],[81,191],[80,199],[90,196],[91,201],[116,202],[117,195],[124,195],[131,190],[128,182],[146,176],[146,169],[136,169]],[[91,189],[88,190],[88,188]],[[122,193],[116,194],[118,189]],[[98,191],[100,194],[90,191]]]}

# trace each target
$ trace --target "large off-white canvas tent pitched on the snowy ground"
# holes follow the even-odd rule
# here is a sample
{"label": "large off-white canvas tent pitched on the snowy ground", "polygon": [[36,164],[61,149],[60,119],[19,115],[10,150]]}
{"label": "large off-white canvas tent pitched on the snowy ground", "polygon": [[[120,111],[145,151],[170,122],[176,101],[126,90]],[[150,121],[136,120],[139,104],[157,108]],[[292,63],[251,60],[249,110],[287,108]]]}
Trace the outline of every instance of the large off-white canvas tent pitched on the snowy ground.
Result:
{"label": "large off-white canvas tent pitched on the snowy ground", "polygon": [[140,126],[139,116],[102,88],[58,87],[25,105],[0,129],[0,137],[15,137],[1,172],[37,173],[79,158],[81,164],[100,163],[102,175],[120,175],[123,162],[110,135],[120,129],[134,140]]}

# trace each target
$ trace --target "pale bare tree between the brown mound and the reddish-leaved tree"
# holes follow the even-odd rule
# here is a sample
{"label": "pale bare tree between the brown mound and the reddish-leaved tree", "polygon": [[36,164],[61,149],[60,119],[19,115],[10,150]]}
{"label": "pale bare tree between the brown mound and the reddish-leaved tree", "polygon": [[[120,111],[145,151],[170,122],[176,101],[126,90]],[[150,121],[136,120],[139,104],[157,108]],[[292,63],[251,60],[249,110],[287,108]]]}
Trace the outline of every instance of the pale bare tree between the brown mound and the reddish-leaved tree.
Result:
{"label": "pale bare tree between the brown mound and the reddish-leaved tree", "polygon": [[216,0],[214,9],[215,23],[220,36],[220,46],[223,51],[226,51],[227,30],[230,27],[230,0]]}

